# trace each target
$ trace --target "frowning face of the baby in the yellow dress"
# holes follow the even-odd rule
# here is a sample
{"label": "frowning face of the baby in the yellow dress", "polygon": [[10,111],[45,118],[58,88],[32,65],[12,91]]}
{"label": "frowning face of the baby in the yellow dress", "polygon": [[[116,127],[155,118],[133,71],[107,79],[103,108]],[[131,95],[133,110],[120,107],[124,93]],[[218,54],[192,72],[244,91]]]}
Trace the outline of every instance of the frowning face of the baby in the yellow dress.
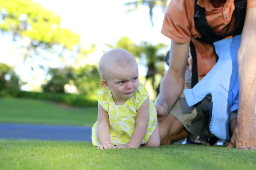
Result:
{"label": "frowning face of the baby in the yellow dress", "polygon": [[126,67],[113,67],[108,78],[108,88],[115,101],[124,102],[138,89],[138,67],[136,64]]}

